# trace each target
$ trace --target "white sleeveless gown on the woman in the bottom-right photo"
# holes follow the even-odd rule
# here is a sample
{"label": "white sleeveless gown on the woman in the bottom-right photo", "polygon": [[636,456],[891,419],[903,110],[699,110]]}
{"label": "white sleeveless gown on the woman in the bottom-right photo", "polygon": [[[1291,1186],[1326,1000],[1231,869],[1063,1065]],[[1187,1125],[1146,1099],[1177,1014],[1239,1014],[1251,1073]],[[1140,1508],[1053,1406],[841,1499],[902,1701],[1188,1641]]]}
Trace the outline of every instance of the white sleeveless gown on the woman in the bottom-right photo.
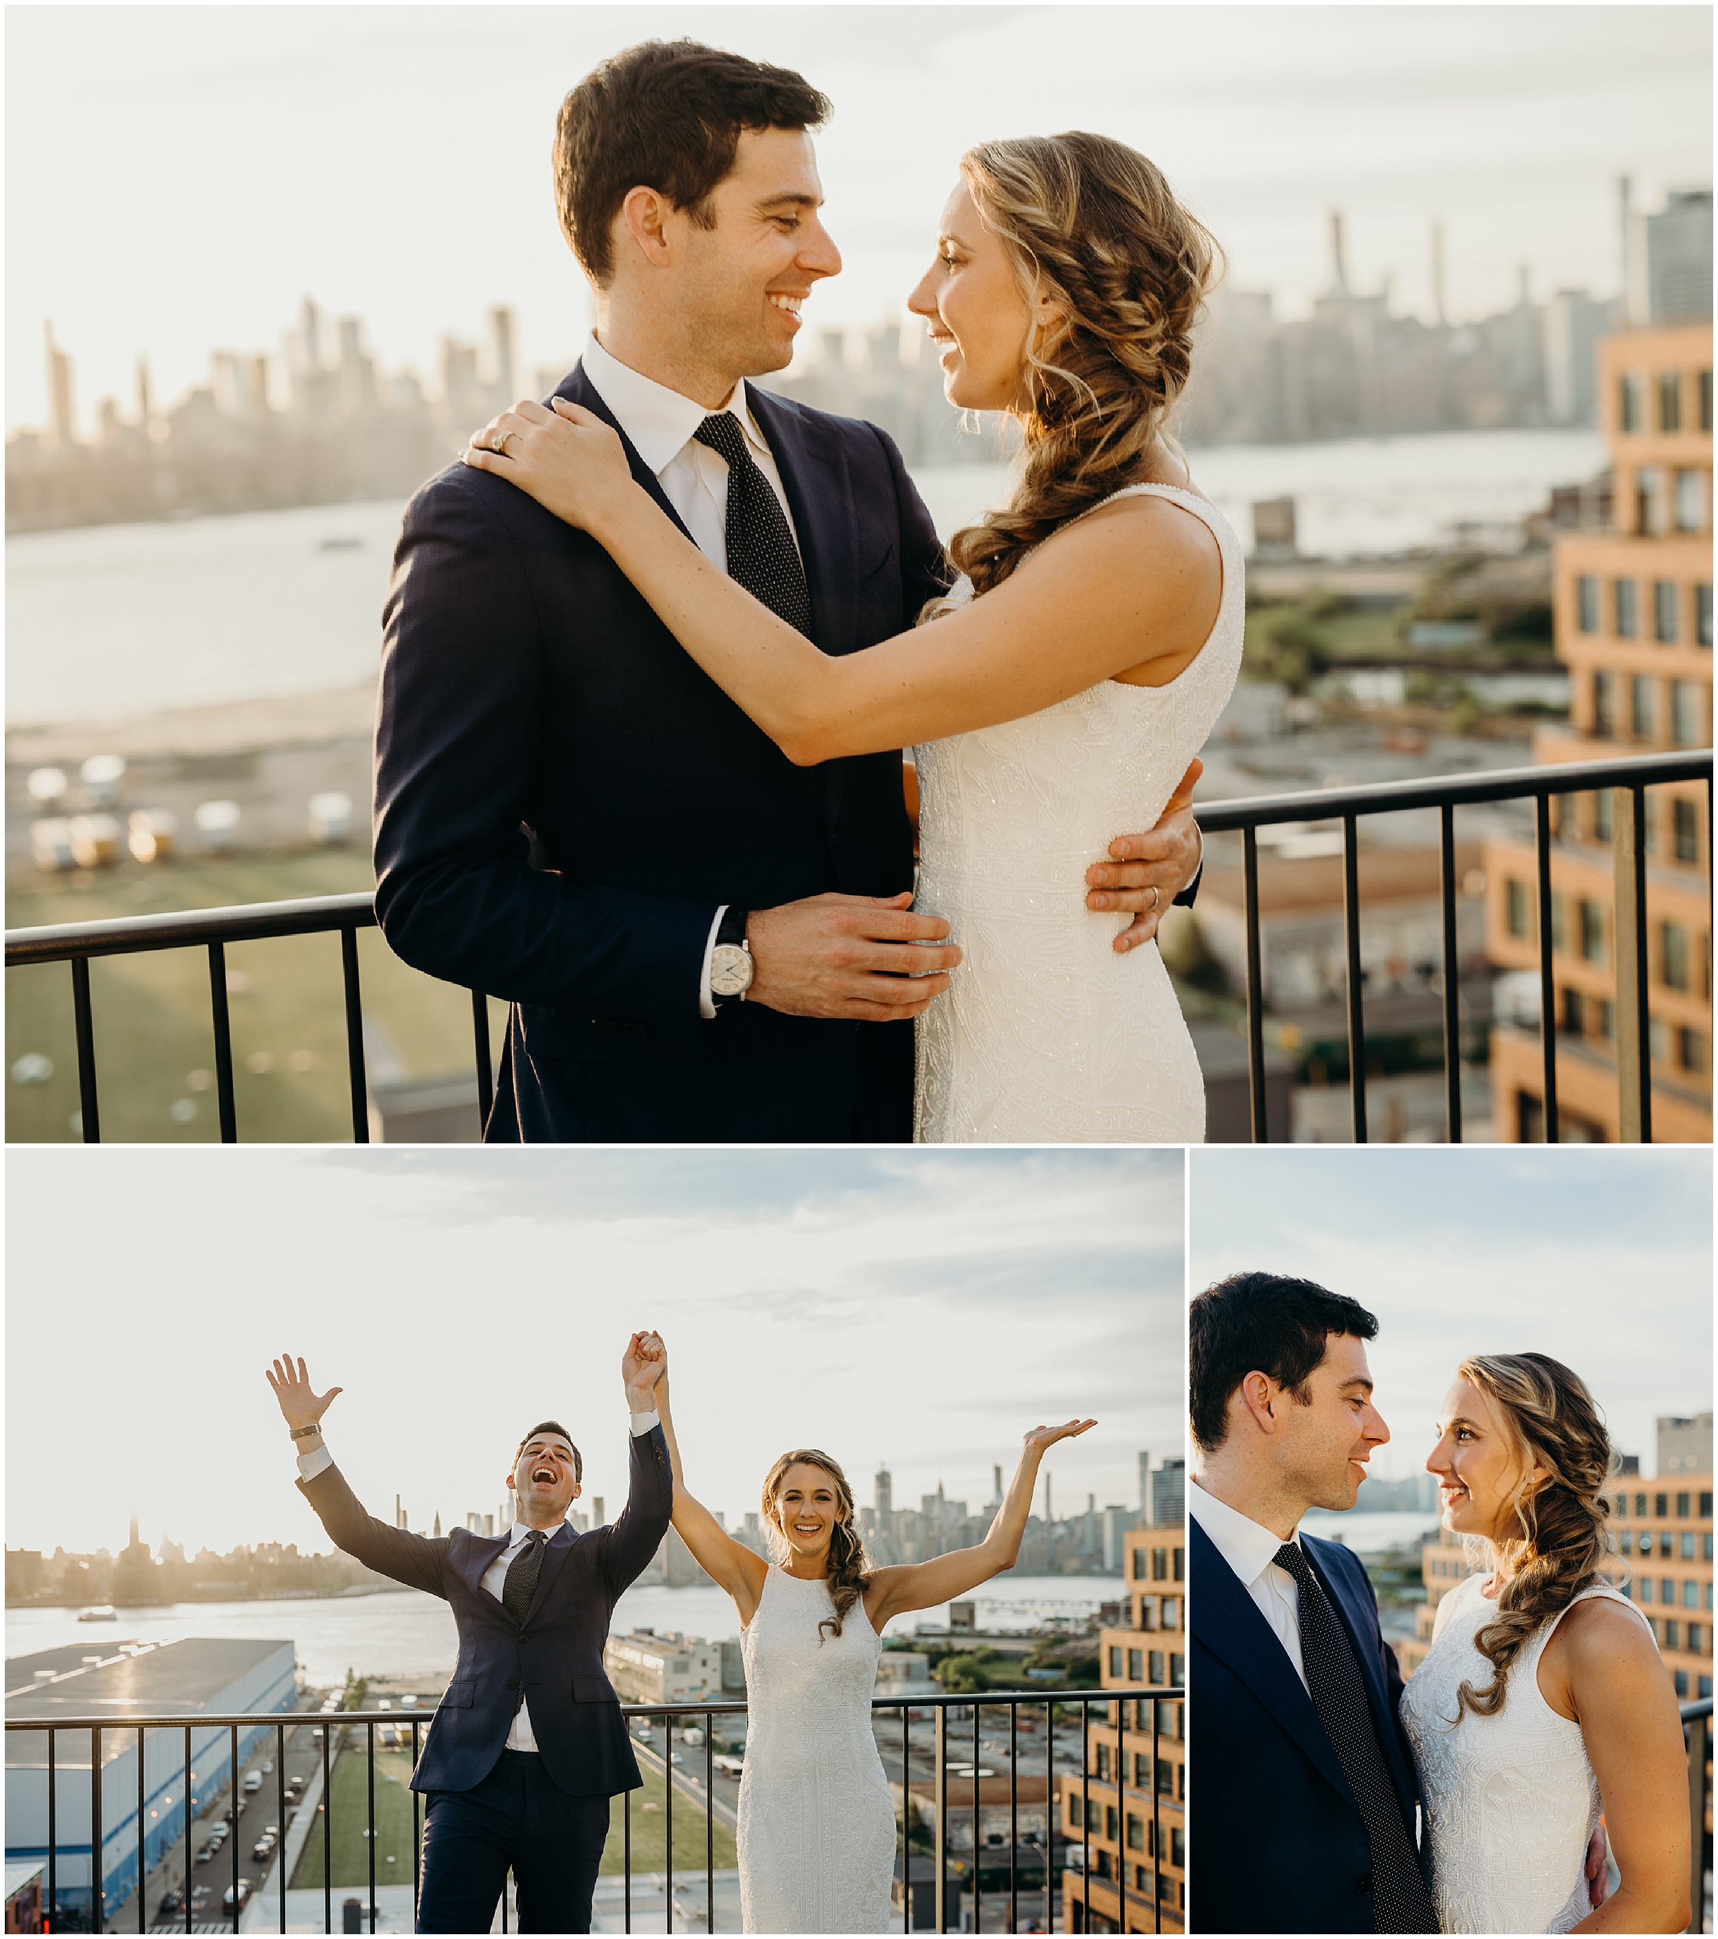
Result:
{"label": "white sleeveless gown on the woman in the bottom-right photo", "polygon": [[[1497,1604],[1481,1594],[1483,1580],[1468,1576],[1445,1598],[1437,1640],[1402,1691],[1431,1834],[1439,1929],[1567,1933],[1592,1910],[1586,1846],[1600,1819],[1580,1726],[1557,1716],[1540,1691],[1540,1656],[1569,1611],[1545,1623],[1511,1664],[1497,1716],[1464,1710],[1450,1728],[1460,1683],[1485,1689],[1491,1681],[1489,1660],[1474,1648],[1474,1635],[1497,1615]],[[1635,1609],[1627,1596],[1600,1586],[1580,1590],[1569,1607],[1588,1598]]]}

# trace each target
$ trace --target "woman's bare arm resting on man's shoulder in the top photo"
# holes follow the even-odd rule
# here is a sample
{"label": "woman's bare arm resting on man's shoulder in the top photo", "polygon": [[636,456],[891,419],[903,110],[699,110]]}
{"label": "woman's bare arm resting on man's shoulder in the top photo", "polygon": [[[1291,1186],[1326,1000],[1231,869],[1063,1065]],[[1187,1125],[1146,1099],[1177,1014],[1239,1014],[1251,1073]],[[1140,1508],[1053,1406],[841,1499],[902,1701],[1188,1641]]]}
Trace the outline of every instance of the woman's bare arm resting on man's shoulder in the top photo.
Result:
{"label": "woman's bare arm resting on man's shoulder in the top photo", "polygon": [[1024,719],[1148,661],[1169,679],[1218,617],[1222,562],[1208,527],[1165,500],[1136,498],[1057,533],[1001,588],[935,626],[826,657],[675,529],[595,413],[564,397],[555,411],[520,403],[487,440],[461,454],[465,463],[589,531],[799,766]]}

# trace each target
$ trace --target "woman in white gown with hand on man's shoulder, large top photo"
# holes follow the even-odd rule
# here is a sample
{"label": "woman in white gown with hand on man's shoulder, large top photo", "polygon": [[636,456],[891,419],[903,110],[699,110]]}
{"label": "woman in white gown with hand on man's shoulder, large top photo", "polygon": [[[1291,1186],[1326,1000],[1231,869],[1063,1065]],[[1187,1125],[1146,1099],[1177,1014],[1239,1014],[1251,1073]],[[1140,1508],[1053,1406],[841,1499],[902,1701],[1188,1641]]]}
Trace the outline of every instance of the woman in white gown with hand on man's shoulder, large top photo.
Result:
{"label": "woman in white gown with hand on man's shoulder, large top photo", "polygon": [[1092,134],[960,163],[911,295],[956,405],[1024,434],[1012,500],[958,531],[929,630],[826,657],[634,483],[619,436],[520,403],[461,456],[589,531],[797,764],[915,745],[917,907],[966,960],[917,1022],[919,1142],[1196,1142],[1204,1084],[1156,948],[1078,884],[1156,816],[1241,665],[1241,543],[1167,434],[1216,244]]}

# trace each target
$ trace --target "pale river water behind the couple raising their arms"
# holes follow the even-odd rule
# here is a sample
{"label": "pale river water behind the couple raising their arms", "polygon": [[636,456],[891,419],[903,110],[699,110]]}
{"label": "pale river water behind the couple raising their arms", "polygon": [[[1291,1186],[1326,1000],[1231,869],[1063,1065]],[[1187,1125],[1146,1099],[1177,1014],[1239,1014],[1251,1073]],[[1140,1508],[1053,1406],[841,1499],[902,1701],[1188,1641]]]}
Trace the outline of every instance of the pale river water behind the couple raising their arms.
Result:
{"label": "pale river water behind the couple raising their arms", "polygon": [[[1051,1617],[1084,1621],[1099,1604],[1119,1602],[1121,1576],[1008,1576],[971,1594],[981,1629],[1034,1629]],[[896,1617],[888,1635],[909,1637],[917,1623],[946,1625],[948,1609]],[[737,1637],[739,1617],[727,1596],[698,1588],[630,1588],[615,1605],[613,1629],[681,1631],[686,1637]],[[196,1602],[163,1609],[120,1609],[114,1623],[80,1623],[76,1609],[8,1609],[6,1654],[64,1648],[74,1642],[103,1656],[116,1642],[165,1642],[182,1637],[291,1640],[312,1683],[359,1675],[446,1677],[458,1638],[454,1615],[436,1596],[382,1590],[374,1596],[314,1596],[285,1602]]]}

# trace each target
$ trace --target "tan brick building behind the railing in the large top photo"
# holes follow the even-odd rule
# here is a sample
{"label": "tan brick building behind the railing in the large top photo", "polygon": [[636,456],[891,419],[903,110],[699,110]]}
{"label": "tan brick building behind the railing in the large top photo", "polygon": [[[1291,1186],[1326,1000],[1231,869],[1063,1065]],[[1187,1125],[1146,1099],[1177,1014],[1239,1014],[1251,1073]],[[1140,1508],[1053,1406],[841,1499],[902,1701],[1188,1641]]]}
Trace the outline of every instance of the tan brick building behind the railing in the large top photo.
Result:
{"label": "tan brick building behind the railing in the large top photo", "polygon": [[[1600,425],[1613,524],[1557,541],[1553,626],[1571,673],[1567,727],[1536,735],[1540,762],[1712,745],[1712,326],[1627,330],[1598,347]],[[1557,1115],[1565,1140],[1615,1140],[1615,907],[1609,791],[1553,797],[1551,950]],[[1699,781],[1646,791],[1646,985],[1652,1132],[1712,1136],[1710,828]],[[1538,968],[1530,843],[1485,855],[1487,956]],[[1538,1032],[1491,1039],[1493,1121],[1542,1140]]]}

